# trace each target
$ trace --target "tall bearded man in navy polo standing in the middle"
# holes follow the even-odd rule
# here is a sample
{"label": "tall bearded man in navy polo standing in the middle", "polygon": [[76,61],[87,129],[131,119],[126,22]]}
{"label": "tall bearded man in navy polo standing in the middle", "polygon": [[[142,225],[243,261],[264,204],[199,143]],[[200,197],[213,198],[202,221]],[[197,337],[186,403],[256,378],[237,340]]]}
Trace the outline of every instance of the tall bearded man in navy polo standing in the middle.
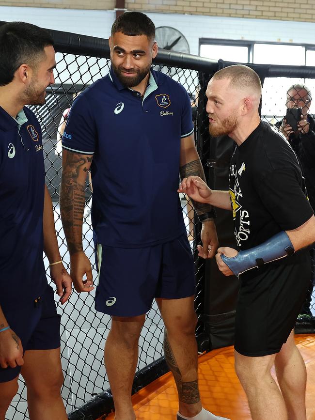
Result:
{"label": "tall bearded man in navy polo standing in the middle", "polygon": [[[181,177],[204,177],[204,172],[187,92],[151,70],[154,38],[154,24],[142,13],[118,17],[111,29],[110,73],[86,89],[70,111],[60,201],[71,277],[78,292],[94,289],[82,249],[85,178],[91,167],[95,308],[112,316],[105,365],[115,419],[135,419],[130,395],[138,340],[154,298],[179,394],[177,418],[218,419],[200,402],[194,265],[177,194],[179,172]],[[195,208],[203,221],[199,254],[209,258],[218,245],[214,214],[209,205]]]}

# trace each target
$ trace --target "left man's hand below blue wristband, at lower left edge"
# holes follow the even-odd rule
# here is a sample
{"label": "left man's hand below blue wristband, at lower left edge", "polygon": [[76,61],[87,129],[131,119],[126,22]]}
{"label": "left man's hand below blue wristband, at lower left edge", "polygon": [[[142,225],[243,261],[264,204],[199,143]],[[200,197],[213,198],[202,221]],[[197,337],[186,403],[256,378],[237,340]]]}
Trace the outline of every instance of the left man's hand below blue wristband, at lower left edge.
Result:
{"label": "left man's hand below blue wristband, at lower left edge", "polygon": [[11,328],[0,332],[1,368],[6,369],[8,366],[16,368],[16,366],[22,366],[23,364],[23,347],[16,333]]}

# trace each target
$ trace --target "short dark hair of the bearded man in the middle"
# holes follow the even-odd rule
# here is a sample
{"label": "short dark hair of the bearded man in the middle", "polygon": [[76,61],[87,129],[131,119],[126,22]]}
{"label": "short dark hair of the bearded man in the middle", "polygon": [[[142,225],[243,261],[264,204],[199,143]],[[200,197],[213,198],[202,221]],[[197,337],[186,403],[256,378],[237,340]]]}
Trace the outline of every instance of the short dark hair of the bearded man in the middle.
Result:
{"label": "short dark hair of the bearded man in the middle", "polygon": [[124,35],[146,35],[152,41],[155,39],[155,26],[152,20],[141,12],[126,12],[117,17],[111,27],[111,35],[123,32]]}

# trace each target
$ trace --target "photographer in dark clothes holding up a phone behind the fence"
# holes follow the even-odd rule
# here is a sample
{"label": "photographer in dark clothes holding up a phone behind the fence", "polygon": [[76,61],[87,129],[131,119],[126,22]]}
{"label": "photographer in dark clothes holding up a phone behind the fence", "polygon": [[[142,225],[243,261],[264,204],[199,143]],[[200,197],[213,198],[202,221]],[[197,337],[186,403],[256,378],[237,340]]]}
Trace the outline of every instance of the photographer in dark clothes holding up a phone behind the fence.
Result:
{"label": "photographer in dark clothes holding up a phone behind the fence", "polygon": [[[309,113],[311,103],[311,91],[303,84],[294,84],[287,91],[286,115],[275,125],[299,157],[309,201],[315,210],[315,115]],[[310,253],[312,261],[310,293],[302,306],[299,318],[312,316],[310,306],[315,282],[315,249],[311,249]]]}

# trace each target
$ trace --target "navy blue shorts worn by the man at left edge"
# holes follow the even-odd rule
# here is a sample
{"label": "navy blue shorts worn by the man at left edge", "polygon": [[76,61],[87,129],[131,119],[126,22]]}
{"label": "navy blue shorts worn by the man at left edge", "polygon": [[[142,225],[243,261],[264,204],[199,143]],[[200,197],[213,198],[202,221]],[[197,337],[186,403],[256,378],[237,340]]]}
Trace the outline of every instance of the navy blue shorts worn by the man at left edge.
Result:
{"label": "navy blue shorts worn by the man at left edge", "polygon": [[[60,315],[57,313],[52,287],[47,285],[39,303],[30,302],[22,306],[12,305],[12,311],[5,312],[11,329],[20,338],[26,350],[52,350],[60,347]],[[1,333],[0,333],[1,334]],[[0,367],[0,382],[16,378],[21,367],[6,369]]]}

